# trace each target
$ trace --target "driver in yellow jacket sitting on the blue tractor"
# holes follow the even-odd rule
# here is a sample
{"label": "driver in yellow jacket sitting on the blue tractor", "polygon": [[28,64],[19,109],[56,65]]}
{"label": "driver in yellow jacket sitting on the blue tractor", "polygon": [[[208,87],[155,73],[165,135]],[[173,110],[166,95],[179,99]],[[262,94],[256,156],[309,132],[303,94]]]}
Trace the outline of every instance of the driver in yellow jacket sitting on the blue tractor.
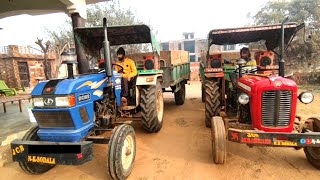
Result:
{"label": "driver in yellow jacket sitting on the blue tractor", "polygon": [[137,68],[134,61],[128,57],[126,57],[126,52],[122,47],[120,47],[117,51],[118,61],[116,64],[123,67],[123,69],[119,66],[114,66],[115,70],[121,73],[122,81],[121,81],[121,101],[127,101],[129,95],[129,86],[128,83],[131,81],[138,73]]}

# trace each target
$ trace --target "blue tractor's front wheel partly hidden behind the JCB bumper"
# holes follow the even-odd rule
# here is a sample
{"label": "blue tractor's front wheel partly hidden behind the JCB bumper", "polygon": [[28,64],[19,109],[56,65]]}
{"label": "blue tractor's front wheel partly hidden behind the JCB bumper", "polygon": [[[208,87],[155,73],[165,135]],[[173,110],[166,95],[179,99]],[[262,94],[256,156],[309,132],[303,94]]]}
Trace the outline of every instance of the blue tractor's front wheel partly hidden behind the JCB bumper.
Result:
{"label": "blue tractor's front wheel partly hidden behind the JCB bumper", "polygon": [[[38,130],[39,130],[39,126],[32,127],[23,136],[22,140],[23,141],[40,141],[40,138],[37,134]],[[43,163],[19,162],[19,166],[23,171],[29,174],[42,174],[52,169],[55,165],[43,164]]]}

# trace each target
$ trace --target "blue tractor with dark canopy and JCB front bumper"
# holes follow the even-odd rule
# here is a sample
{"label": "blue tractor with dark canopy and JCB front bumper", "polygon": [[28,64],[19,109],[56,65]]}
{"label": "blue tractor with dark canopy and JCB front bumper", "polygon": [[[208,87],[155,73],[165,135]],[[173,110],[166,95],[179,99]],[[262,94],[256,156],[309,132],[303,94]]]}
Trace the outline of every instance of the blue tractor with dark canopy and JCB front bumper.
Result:
{"label": "blue tractor with dark canopy and JCB front bumper", "polygon": [[[122,35],[137,33],[132,31],[134,28],[107,28],[106,19],[103,24],[99,28],[75,30],[75,40],[87,43],[83,44],[83,48],[90,45],[92,49],[100,51],[103,47],[106,62],[104,71],[74,75],[73,65],[77,61],[75,54],[69,51],[63,54],[68,77],[40,82],[33,89],[32,113],[37,126],[31,128],[21,140],[11,143],[13,160],[18,161],[25,172],[45,173],[56,164],[81,165],[93,159],[93,143],[108,143],[110,176],[113,179],[125,179],[130,175],[136,154],[135,131],[130,123],[134,115],[140,112],[140,106],[128,111],[121,108],[121,74],[112,68],[115,64],[111,62],[112,42],[108,38],[121,39]],[[100,39],[97,41],[95,35],[99,33]],[[139,39],[139,36],[137,34],[136,38]],[[154,85],[143,87],[145,91],[148,89],[159,88]],[[160,91],[157,95],[149,94],[148,98],[162,98],[161,86]],[[147,94],[155,92],[146,91]],[[148,108],[157,109],[157,104],[161,105],[161,102],[157,102],[152,100]],[[151,132],[158,132],[163,114],[159,116],[157,110],[147,112],[149,114],[144,115],[144,119],[150,126],[146,127],[150,127]]]}

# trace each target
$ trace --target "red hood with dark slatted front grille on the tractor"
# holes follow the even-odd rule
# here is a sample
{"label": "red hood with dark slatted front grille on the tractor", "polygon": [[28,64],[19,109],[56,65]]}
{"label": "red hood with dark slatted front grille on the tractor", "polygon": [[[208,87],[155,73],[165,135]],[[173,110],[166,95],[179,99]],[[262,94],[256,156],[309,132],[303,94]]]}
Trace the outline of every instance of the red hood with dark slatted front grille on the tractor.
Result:
{"label": "red hood with dark slatted front grille on the tractor", "polygon": [[237,87],[249,97],[252,127],[266,132],[292,132],[297,84],[281,76],[243,75]]}

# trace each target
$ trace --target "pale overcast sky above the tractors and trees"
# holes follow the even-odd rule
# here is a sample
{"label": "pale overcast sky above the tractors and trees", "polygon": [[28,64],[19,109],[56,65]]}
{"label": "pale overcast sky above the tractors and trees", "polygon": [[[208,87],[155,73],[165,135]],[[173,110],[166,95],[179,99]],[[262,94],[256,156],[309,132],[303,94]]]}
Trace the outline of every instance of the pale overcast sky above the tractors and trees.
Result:
{"label": "pale overcast sky above the tractors and trees", "polygon": [[[131,8],[139,19],[158,31],[160,41],[182,38],[183,32],[195,32],[206,38],[215,28],[239,27],[251,23],[248,12],[255,13],[268,0],[119,0],[121,7]],[[46,38],[44,27],[56,28],[64,23],[63,13],[0,19],[0,46],[34,45],[37,37]]]}

